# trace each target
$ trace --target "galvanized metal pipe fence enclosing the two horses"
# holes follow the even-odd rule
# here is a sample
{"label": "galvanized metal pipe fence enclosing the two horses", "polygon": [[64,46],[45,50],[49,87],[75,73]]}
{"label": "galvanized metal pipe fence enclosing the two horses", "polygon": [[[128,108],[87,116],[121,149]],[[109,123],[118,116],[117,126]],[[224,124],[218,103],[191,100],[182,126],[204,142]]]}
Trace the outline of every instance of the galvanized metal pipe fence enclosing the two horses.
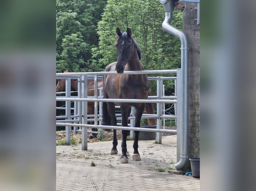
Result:
{"label": "galvanized metal pipe fence enclosing the two horses", "polygon": [[[157,71],[128,71],[123,74],[170,74],[176,73],[177,77],[148,77],[148,80],[157,81],[157,95],[149,96],[147,100],[145,99],[104,99],[101,91],[100,95],[97,94],[97,81],[102,79],[102,75],[120,75],[116,72],[87,72],[87,73],[56,73],[56,79],[66,79],[66,91],[65,96],[56,96],[56,101],[66,101],[65,107],[65,116],[56,116],[56,119],[65,118],[65,120],[56,120],[56,126],[66,126],[66,144],[71,144],[71,127],[74,127],[74,134],[76,132],[82,132],[82,150],[87,150],[87,133],[96,133],[93,131],[88,131],[88,128],[98,128],[99,130],[104,129],[122,129],[130,130],[131,139],[134,138],[134,130],[136,131],[147,131],[147,132],[156,132],[156,142],[162,142],[162,132],[176,133],[177,130],[162,129],[162,119],[179,119],[180,114],[180,95],[181,95],[181,86],[180,86],[180,72],[177,70],[157,70]],[[78,81],[78,96],[71,96],[71,79],[77,79]],[[87,80],[94,79],[94,96],[87,96]],[[174,96],[164,96],[163,95],[163,80],[175,80],[175,95]],[[179,95],[179,97],[178,97]],[[177,98],[178,97],[178,98]],[[71,108],[71,101],[74,101],[74,107]],[[94,115],[87,114],[87,101],[95,102],[95,113]],[[100,104],[100,111],[98,115],[98,102]],[[156,103],[156,114],[143,114],[142,119],[146,118],[156,118],[157,125],[156,129],[152,128],[138,128],[134,127],[135,122],[135,109],[132,109],[130,119],[130,127],[123,126],[106,126],[101,125],[102,115],[101,115],[101,104],[102,102],[150,102]],[[177,114],[166,115],[163,113],[163,104],[164,103],[174,103],[176,105]],[[60,108],[56,108],[60,109]],[[61,108],[63,109],[63,108]],[[71,109],[74,110],[74,114],[71,115]],[[88,119],[88,117],[94,117],[94,119]],[[72,119],[73,118],[73,119]],[[117,119],[121,119],[121,115],[117,115]],[[94,125],[87,124],[88,121],[94,120]],[[98,125],[99,121],[99,125]],[[177,120],[177,126],[180,123]],[[78,130],[78,128],[82,130]]]}

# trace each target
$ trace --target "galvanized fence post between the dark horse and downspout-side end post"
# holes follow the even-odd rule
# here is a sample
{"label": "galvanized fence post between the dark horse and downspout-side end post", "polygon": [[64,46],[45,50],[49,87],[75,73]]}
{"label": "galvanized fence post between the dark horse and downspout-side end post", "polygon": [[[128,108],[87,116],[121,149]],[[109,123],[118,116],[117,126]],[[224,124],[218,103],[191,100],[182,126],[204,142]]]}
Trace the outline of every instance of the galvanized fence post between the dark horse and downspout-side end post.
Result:
{"label": "galvanized fence post between the dark horse and downspout-side end post", "polygon": [[[161,99],[160,97],[163,96],[163,80],[159,76],[157,79],[157,93],[156,95],[158,96],[158,99]],[[162,128],[162,119],[161,115],[163,114],[163,103],[156,103],[156,114],[157,114],[157,119],[156,119],[156,128],[161,129]],[[162,144],[162,133],[157,132],[156,133],[156,143],[157,144]]]}

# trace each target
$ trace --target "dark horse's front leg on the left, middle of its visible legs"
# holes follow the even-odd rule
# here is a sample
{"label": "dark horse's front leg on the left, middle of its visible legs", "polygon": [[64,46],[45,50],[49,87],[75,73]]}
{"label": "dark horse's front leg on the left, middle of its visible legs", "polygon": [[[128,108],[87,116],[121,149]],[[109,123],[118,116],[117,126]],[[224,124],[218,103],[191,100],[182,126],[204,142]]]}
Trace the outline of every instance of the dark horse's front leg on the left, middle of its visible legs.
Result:
{"label": "dark horse's front leg on the left, middle of its visible legs", "polygon": [[[122,126],[128,127],[128,116],[131,112],[131,107],[127,103],[120,105],[121,115],[122,115]],[[120,158],[121,163],[128,163],[129,153],[127,152],[126,137],[129,135],[128,130],[122,130],[122,156]]]}

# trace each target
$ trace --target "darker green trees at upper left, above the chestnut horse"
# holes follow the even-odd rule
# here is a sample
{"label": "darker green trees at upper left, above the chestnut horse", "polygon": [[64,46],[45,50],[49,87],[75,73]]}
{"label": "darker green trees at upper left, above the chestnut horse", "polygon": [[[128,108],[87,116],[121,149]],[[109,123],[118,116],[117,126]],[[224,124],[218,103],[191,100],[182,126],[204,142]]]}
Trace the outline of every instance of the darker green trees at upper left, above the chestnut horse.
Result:
{"label": "darker green trees at upper left, above the chestnut horse", "polygon": [[56,72],[102,70],[92,60],[105,0],[56,0]]}

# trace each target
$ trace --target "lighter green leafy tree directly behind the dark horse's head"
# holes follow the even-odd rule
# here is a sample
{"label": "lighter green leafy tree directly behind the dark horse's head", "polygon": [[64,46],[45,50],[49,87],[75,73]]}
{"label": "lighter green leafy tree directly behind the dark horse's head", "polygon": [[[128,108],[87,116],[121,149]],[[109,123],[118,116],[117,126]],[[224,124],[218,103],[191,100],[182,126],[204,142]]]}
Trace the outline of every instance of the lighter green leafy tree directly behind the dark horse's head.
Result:
{"label": "lighter green leafy tree directly behind the dark horse's head", "polygon": [[[102,20],[98,23],[99,48],[92,50],[93,58],[101,58],[96,62],[102,67],[115,62],[115,29],[119,27],[121,31],[126,31],[129,27],[142,51],[141,62],[145,70],[180,68],[180,41],[162,29],[164,15],[158,0],[108,0]],[[174,11],[172,26],[182,30],[181,11]],[[167,91],[173,92],[173,82],[166,81],[164,84]],[[156,84],[150,81],[151,93],[155,95],[153,87]]]}

